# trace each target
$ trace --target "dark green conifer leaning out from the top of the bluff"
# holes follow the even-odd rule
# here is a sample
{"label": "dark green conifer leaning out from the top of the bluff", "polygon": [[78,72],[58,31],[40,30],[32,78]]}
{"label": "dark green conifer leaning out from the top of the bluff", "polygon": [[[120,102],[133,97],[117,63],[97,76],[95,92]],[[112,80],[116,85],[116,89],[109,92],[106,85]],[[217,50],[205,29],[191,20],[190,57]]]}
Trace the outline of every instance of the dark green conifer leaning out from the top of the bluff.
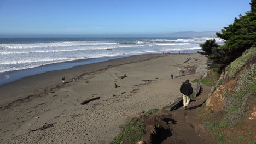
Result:
{"label": "dark green conifer leaning out from the top of the bluff", "polygon": [[256,11],[255,0],[252,0],[251,10],[246,15],[240,15],[235,18],[234,23],[224,27],[222,32],[217,32],[219,38],[226,40],[225,44],[220,46],[215,39],[206,40],[201,44],[204,52],[199,52],[207,57],[207,65],[210,68],[220,68],[223,70],[242,53],[256,46]]}

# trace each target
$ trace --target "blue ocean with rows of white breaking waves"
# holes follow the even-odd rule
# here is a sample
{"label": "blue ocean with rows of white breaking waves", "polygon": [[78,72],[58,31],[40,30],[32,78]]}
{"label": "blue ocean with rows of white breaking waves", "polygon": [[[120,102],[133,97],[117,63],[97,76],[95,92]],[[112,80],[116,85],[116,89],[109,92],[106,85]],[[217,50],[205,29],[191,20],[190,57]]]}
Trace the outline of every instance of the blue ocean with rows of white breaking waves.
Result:
{"label": "blue ocean with rows of white breaking waves", "polygon": [[[0,38],[0,85],[28,75],[131,55],[195,53],[208,39],[212,38]],[[219,38],[216,41],[224,43]],[[54,67],[42,68],[52,64]]]}

